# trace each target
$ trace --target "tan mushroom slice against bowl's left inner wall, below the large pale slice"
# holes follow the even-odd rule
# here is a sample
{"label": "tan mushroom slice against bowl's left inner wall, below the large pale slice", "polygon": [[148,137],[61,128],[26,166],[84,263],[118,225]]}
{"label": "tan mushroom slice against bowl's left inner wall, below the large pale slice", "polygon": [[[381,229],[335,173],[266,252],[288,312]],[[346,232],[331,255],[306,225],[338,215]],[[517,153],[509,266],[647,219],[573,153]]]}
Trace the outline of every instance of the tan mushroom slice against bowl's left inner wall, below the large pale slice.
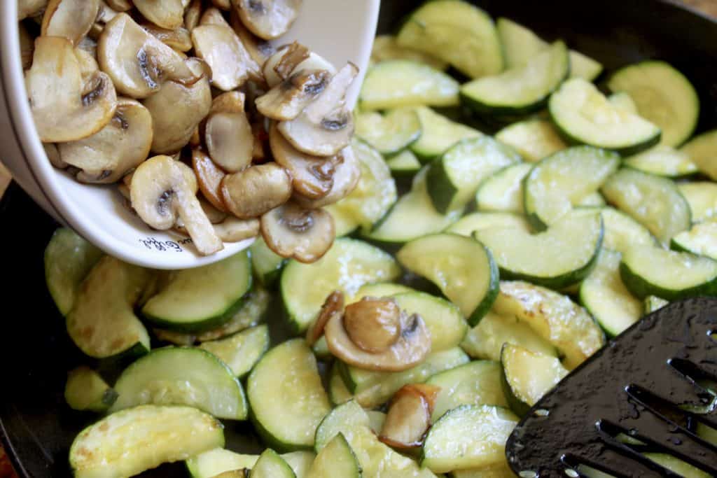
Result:
{"label": "tan mushroom slice against bowl's left inner wall, below the large pale slice", "polygon": [[57,145],[62,161],[76,168],[77,180],[115,183],[146,160],[152,144],[152,117],[135,100],[120,98],[110,123],[89,138]]}

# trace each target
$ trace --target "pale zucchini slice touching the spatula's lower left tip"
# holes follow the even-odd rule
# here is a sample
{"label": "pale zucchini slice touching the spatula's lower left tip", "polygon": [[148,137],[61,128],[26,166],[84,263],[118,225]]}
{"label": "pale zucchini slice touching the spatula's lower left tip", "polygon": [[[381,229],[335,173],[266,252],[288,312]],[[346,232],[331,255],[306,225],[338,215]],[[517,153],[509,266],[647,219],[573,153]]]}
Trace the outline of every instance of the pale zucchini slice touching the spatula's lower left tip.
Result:
{"label": "pale zucchini slice touching the spatula's lower left tip", "polygon": [[506,408],[490,405],[453,408],[428,431],[421,466],[445,473],[502,463],[505,441],[517,424],[518,417]]}

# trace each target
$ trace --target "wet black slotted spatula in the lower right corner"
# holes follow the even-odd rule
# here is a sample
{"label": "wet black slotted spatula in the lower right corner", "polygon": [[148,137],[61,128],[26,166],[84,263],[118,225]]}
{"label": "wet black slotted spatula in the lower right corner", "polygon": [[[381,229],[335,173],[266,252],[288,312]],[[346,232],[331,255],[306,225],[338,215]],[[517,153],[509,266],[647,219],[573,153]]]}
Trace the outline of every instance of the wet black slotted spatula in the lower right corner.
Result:
{"label": "wet black slotted spatula in the lower right corner", "polygon": [[581,465],[619,478],[680,477],[640,453],[648,449],[717,477],[717,446],[695,434],[698,424],[717,429],[710,383],[717,299],[668,305],[541,398],[508,439],[508,463],[524,478],[587,476]]}

